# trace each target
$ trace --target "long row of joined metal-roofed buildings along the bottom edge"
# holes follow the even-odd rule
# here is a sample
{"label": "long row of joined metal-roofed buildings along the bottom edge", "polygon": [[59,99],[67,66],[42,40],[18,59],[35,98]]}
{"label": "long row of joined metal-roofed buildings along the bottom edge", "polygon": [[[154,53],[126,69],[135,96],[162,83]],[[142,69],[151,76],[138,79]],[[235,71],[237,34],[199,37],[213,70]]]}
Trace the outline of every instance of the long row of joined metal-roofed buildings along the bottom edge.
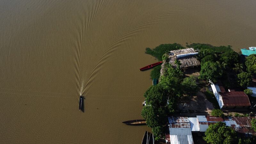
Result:
{"label": "long row of joined metal-roofed buildings along the bottom edge", "polygon": [[230,126],[240,136],[256,136],[256,132],[252,129],[252,118],[256,117],[226,117],[224,119],[215,116],[168,117],[170,133],[165,135],[165,141],[166,144],[193,144],[192,133],[204,133],[209,125],[218,122]]}

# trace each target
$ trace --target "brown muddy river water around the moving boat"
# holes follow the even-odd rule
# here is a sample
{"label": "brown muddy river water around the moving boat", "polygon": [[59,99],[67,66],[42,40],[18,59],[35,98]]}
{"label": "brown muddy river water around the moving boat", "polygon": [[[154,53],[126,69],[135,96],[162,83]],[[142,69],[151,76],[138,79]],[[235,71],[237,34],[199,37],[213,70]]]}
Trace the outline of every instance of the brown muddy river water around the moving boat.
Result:
{"label": "brown muddy river water around the moving boat", "polygon": [[[141,143],[159,44],[256,45],[256,1],[0,1],[1,143]],[[78,110],[84,96],[84,113]]]}

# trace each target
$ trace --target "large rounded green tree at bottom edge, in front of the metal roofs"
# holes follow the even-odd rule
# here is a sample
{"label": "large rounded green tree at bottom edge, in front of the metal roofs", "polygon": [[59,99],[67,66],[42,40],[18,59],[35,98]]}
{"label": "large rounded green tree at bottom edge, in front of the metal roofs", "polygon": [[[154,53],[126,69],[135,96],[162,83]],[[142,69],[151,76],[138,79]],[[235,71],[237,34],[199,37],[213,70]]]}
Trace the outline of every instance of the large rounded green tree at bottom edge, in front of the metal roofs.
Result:
{"label": "large rounded green tree at bottom edge, in front of the metal roofs", "polygon": [[234,144],[237,137],[236,132],[231,127],[219,122],[209,125],[203,139],[210,144]]}

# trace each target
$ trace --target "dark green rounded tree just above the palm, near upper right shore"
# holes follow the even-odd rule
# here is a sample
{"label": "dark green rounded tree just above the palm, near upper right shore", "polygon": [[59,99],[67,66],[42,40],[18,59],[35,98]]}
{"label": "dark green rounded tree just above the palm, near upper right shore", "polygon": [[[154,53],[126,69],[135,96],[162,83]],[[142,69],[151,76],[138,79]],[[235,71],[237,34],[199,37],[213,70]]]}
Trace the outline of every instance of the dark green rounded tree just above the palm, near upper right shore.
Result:
{"label": "dark green rounded tree just above the palm, near upper right shore", "polygon": [[229,67],[232,67],[239,61],[239,54],[235,51],[228,51],[220,55],[220,61],[227,63]]}

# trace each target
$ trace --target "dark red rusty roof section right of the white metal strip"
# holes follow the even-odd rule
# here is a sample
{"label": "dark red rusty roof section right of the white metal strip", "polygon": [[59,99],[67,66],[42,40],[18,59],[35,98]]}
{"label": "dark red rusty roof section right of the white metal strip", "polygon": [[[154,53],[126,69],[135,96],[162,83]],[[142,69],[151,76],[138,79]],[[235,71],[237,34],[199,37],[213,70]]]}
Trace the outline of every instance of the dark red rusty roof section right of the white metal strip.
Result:
{"label": "dark red rusty roof section right of the white metal strip", "polygon": [[229,106],[251,106],[248,96],[244,92],[219,92],[223,107]]}

